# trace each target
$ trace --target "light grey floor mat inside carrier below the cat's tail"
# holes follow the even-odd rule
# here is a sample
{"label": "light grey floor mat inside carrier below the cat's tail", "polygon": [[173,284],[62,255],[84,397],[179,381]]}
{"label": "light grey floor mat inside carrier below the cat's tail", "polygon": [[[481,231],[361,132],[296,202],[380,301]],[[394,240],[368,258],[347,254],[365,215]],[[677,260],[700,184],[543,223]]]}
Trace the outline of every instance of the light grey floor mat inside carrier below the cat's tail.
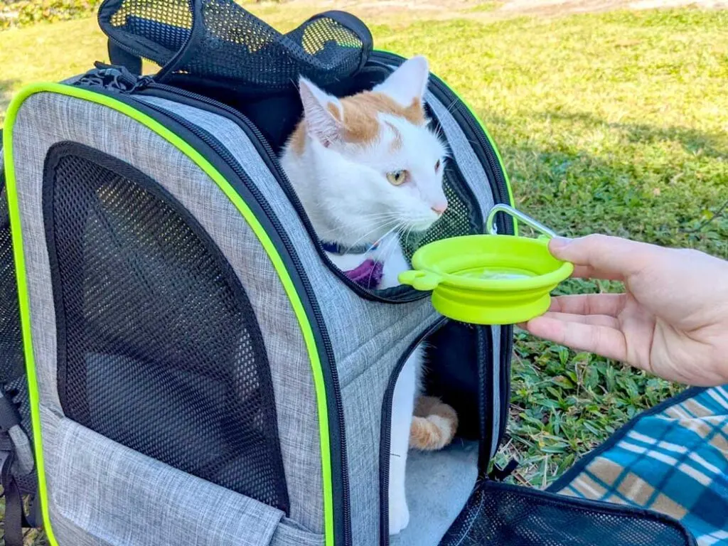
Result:
{"label": "light grey floor mat inside carrier below the cat's tail", "polygon": [[441,451],[407,459],[410,523],[390,546],[436,546],[467,502],[478,477],[478,443],[456,438]]}

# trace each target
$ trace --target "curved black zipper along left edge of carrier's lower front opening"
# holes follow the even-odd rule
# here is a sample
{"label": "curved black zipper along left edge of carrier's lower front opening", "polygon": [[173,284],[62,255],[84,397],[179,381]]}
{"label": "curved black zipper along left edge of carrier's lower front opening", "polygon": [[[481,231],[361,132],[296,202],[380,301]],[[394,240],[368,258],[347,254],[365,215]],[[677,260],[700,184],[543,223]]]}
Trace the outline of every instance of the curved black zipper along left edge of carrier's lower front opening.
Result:
{"label": "curved black zipper along left edge of carrier's lower front opening", "polygon": [[397,361],[395,369],[389,376],[387,390],[384,391],[384,403],[381,408],[381,433],[379,440],[379,545],[389,546],[389,450],[392,446],[392,398],[395,394],[395,384],[400,376],[407,359],[412,355],[422,340],[432,336],[448,323],[446,317],[439,317],[434,324],[430,325],[424,332],[407,347],[404,355]]}

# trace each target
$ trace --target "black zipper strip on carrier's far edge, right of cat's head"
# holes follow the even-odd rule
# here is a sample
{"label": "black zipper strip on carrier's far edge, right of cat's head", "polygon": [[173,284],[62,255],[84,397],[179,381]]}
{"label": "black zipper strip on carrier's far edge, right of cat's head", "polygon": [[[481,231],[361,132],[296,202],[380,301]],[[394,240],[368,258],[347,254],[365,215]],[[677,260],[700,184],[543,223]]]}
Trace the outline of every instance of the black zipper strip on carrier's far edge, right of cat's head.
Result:
{"label": "black zipper strip on carrier's far edge, right of cat's head", "polygon": [[[403,62],[403,58],[394,53],[384,51],[374,51],[371,53],[371,60],[378,59],[383,63],[396,63],[399,65]],[[440,100],[441,103],[448,106],[448,111],[454,116],[456,122],[462,128],[467,128],[470,133],[468,136],[475,137],[475,141],[480,146],[472,146],[475,155],[480,159],[480,162],[486,167],[486,173],[492,175],[493,180],[488,179],[491,184],[491,190],[493,191],[496,202],[499,203],[510,203],[510,195],[508,193],[508,185],[505,180],[505,174],[503,172],[503,166],[498,159],[493,144],[486,136],[483,127],[480,126],[478,119],[472,114],[472,112],[464,105],[462,100],[435,74],[430,74],[430,90],[435,97]],[[470,140],[470,139],[469,139]],[[499,215],[499,230],[505,234],[513,234],[513,223],[510,220],[503,221],[502,215]]]}

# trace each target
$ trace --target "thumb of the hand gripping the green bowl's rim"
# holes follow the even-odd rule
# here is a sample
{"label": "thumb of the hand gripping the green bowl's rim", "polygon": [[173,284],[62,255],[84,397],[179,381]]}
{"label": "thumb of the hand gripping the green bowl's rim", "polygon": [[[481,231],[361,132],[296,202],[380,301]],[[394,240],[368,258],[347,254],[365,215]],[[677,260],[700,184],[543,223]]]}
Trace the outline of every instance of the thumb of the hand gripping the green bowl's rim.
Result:
{"label": "thumb of the hand gripping the green bowl's rim", "polygon": [[549,242],[549,251],[555,258],[574,264],[574,277],[605,280],[626,280],[641,272],[657,248],[607,235],[587,235],[578,239],[557,237]]}

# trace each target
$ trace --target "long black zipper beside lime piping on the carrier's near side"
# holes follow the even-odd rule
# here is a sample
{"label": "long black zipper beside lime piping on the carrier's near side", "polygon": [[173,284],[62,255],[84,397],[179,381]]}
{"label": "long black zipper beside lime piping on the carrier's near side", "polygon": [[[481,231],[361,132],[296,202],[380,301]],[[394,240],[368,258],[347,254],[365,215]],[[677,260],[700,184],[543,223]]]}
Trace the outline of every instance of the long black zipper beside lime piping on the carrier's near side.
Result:
{"label": "long black zipper beside lime piping on the carrier's near side", "polygon": [[[127,72],[128,75],[130,75]],[[132,79],[135,80],[132,84],[130,84],[127,74],[123,74],[119,76],[117,74],[111,75],[111,82],[108,82],[106,84],[101,85],[100,87],[103,87],[103,89],[106,90],[114,90],[116,92],[122,92],[125,95],[131,95],[133,92],[137,92],[138,90],[141,90],[145,87],[149,87],[149,85],[152,84],[153,80],[149,76],[143,76],[142,78],[135,78],[135,76],[132,76]],[[104,75],[100,74],[93,74],[92,75],[92,87],[99,87],[98,86],[98,76],[103,79]],[[78,82],[74,83],[75,85],[87,85],[86,82],[84,82],[84,77],[79,79]],[[155,85],[161,85],[161,84],[155,84]],[[165,86],[167,87],[167,86]],[[134,102],[139,102],[137,100],[134,100],[133,97],[130,97],[131,100]],[[164,108],[160,108],[159,106],[156,106],[154,104],[149,103],[141,103],[141,105],[144,108],[149,108],[152,111],[157,112],[158,114],[162,114],[162,116],[167,116],[167,118],[172,119],[177,124],[181,125],[181,127],[184,127],[186,130],[189,130],[194,136],[199,138],[200,141],[205,143],[207,146],[212,149],[215,154],[222,159],[223,163],[226,163],[226,165],[229,165],[230,168],[234,171],[234,173],[240,178],[240,180],[245,184],[246,189],[250,191],[250,193],[253,195],[253,198],[256,199],[256,202],[258,202],[258,205],[263,210],[266,217],[269,219],[269,221],[273,224],[274,229],[276,230],[277,234],[279,235],[285,250],[288,253],[288,256],[290,257],[290,260],[293,262],[293,267],[296,269],[296,271],[303,271],[304,268],[301,265],[301,261],[298,258],[298,254],[296,253],[296,250],[293,248],[293,244],[290,242],[290,239],[288,238],[288,235],[286,234],[285,230],[283,229],[280,220],[275,215],[274,211],[272,210],[272,207],[268,204],[266,199],[262,196],[260,190],[258,187],[250,181],[250,177],[248,176],[248,173],[245,173],[245,170],[242,169],[240,164],[237,162],[237,160],[232,156],[232,154],[227,150],[224,146],[221,146],[221,144],[213,137],[213,135],[210,135],[209,132],[201,129],[200,127],[197,127],[197,125],[192,124],[191,122],[187,121],[181,116],[178,116],[177,114],[173,114],[170,111],[165,110]],[[351,507],[349,502],[349,474],[347,472],[347,446],[346,446],[346,435],[344,433],[344,406],[341,402],[341,387],[339,385],[339,373],[336,370],[336,366],[333,365],[333,363],[336,362],[335,357],[333,355],[333,347],[331,346],[331,339],[328,337],[328,333],[325,330],[325,321],[323,318],[323,314],[321,313],[320,307],[318,306],[314,290],[312,288],[311,282],[309,278],[306,275],[299,275],[298,278],[301,280],[301,284],[304,286],[304,291],[306,292],[306,297],[309,301],[309,304],[312,309],[312,313],[314,314],[314,319],[316,320],[316,323],[318,326],[322,326],[323,328],[319,328],[320,335],[323,341],[323,346],[325,350],[325,355],[329,363],[329,371],[331,373],[331,380],[333,383],[333,395],[334,395],[334,401],[336,404],[336,414],[337,414],[337,421],[339,425],[339,453],[341,458],[341,486],[342,486],[342,511],[344,513],[344,545],[350,546],[352,545],[352,537],[351,537]]]}

